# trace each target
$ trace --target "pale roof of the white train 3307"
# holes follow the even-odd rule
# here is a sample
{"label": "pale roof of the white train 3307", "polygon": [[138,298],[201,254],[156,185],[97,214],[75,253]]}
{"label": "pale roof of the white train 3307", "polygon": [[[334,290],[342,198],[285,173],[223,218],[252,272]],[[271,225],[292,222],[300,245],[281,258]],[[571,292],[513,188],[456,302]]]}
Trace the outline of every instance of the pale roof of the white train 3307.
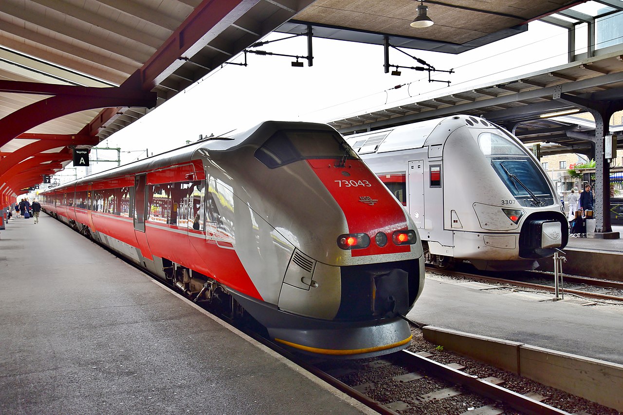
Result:
{"label": "pale roof of the white train 3307", "polygon": [[[371,154],[389,151],[417,149],[427,144],[427,139],[437,126],[444,124],[450,129],[464,125],[482,123],[488,128],[497,127],[493,123],[469,115],[454,115],[444,118],[429,119],[421,123],[405,124],[401,126],[371,131],[369,133],[346,136],[346,141],[358,154]],[[430,143],[428,143],[430,144]],[[435,142],[435,144],[442,144]]]}

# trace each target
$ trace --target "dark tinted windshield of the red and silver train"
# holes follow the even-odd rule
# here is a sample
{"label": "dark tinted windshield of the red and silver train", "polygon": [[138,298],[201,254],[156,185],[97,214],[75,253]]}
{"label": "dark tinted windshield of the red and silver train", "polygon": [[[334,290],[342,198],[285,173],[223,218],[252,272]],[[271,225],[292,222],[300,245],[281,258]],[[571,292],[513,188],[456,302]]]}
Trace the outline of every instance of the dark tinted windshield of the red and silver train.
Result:
{"label": "dark tinted windshield of the red and silver train", "polygon": [[305,159],[358,159],[340,134],[323,130],[280,130],[255,151],[270,169]]}

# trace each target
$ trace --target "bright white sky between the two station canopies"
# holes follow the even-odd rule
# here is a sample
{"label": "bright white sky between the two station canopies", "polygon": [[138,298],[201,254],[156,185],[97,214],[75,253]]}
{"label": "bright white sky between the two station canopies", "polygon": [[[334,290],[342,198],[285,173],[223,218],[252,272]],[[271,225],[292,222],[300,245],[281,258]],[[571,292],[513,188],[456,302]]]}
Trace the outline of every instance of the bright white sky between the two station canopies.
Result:
{"label": "bright white sky between the two station canopies", "polygon": [[[424,30],[433,30],[432,26]],[[414,29],[417,30],[417,29]],[[270,34],[267,39],[287,37]],[[581,45],[579,45],[581,47]],[[288,55],[307,55],[307,39],[275,42],[257,48]],[[328,122],[358,114],[422,100],[420,95],[448,95],[477,85],[556,67],[567,62],[567,31],[543,22],[530,23],[523,34],[500,40],[459,55],[405,50],[440,70],[454,68],[455,73],[432,73],[433,79],[450,80],[429,83],[426,72],[402,69],[395,77],[383,70],[383,47],[339,40],[313,39],[312,67],[295,68],[288,57],[247,55],[249,66],[225,65],[204,77],[186,91],[156,108],[150,114],[123,128],[98,147],[121,147],[121,164],[183,146],[196,141],[199,134],[215,135],[233,129],[244,131],[268,119]],[[419,66],[415,60],[390,50],[389,62]],[[232,60],[243,62],[243,57]],[[407,84],[407,85],[404,85]],[[396,85],[402,88],[393,89]],[[98,151],[98,158],[113,159],[113,151]],[[98,172],[116,163],[93,162]],[[75,170],[57,174],[61,182],[74,179]],[[77,175],[85,175],[78,167]]]}

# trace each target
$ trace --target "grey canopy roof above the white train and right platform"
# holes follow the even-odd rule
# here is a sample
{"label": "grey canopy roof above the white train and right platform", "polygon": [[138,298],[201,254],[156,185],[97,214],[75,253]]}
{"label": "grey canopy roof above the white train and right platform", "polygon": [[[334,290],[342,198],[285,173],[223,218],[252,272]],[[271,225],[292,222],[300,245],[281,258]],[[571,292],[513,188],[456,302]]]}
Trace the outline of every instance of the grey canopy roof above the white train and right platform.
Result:
{"label": "grey canopy roof above the white train and right platform", "polygon": [[[429,93],[417,101],[379,108],[330,121],[343,134],[374,131],[455,114],[483,117],[512,131],[524,144],[542,143],[543,156],[576,152],[592,155],[594,121],[578,118],[584,113],[554,95],[568,95],[593,102],[623,98],[623,50],[556,68],[528,73],[479,86]],[[623,126],[610,126],[620,131]],[[619,133],[620,134],[620,133]],[[623,149],[623,139],[619,139]]]}

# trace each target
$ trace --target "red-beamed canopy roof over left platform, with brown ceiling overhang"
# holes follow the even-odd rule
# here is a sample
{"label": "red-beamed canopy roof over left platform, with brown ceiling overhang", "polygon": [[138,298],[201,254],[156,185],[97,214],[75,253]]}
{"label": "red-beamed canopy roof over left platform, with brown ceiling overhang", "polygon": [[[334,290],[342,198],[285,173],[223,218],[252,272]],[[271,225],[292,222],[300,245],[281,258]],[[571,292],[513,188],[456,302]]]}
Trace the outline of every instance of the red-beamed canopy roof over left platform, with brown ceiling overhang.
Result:
{"label": "red-beamed canopy roof over left platform, with brown ceiling overhang", "polygon": [[460,53],[581,3],[426,0],[435,25],[414,29],[413,0],[2,0],[0,193],[40,183],[70,147],[96,145],[275,30]]}

